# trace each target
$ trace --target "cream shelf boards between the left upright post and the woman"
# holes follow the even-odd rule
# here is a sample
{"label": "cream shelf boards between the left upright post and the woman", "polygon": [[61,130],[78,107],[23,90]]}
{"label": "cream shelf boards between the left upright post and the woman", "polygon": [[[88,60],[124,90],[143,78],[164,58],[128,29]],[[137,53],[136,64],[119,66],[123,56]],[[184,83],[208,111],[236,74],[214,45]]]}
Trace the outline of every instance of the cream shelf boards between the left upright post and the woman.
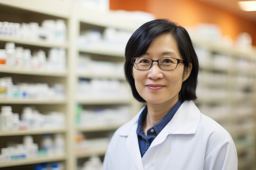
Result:
{"label": "cream shelf boards between the left upright post and the woman", "polygon": [[[76,8],[77,11],[77,26],[79,26],[79,29],[77,29],[77,36],[81,34],[84,30],[91,30],[91,29],[99,29],[101,30],[101,34],[103,30],[106,27],[115,28],[117,30],[124,30],[124,31],[134,31],[138,26],[140,26],[142,23],[136,23],[135,21],[129,20],[128,18],[120,18],[116,14],[112,12],[108,13],[102,13],[102,12],[95,12],[91,9],[84,9],[82,7]],[[91,17],[93,16],[93,17]],[[125,24],[124,24],[125,23]],[[124,51],[120,51],[120,49],[112,50],[109,49],[108,46],[105,46],[104,44],[101,44],[97,47],[78,47],[76,49],[76,59],[80,55],[87,54],[91,56],[91,59],[94,59],[96,57],[98,61],[101,61],[101,59],[104,61],[107,58],[107,61],[110,62],[124,62]],[[106,60],[105,60],[106,61]],[[77,62],[77,60],[76,60]],[[115,75],[115,74],[99,74],[99,73],[86,73],[86,72],[79,72],[76,74],[77,80],[79,78],[86,78],[89,81],[91,79],[97,78],[97,79],[109,79],[109,80],[118,80],[120,82],[125,82],[124,75]],[[86,95],[86,94],[85,94]],[[134,100],[131,97],[126,98],[120,98],[120,97],[111,97],[111,96],[99,96],[99,97],[93,97],[88,96],[86,99],[76,99],[76,103],[81,104],[84,109],[86,108],[101,108],[103,107],[111,107],[111,106],[121,106],[121,105],[127,105],[131,108],[131,110],[138,110],[138,103],[134,102]],[[97,126],[93,125],[86,125],[81,124],[80,126],[76,127],[76,133],[82,133],[85,136],[89,135],[92,136],[90,140],[97,140],[97,134],[102,133],[109,133],[116,130],[118,127],[120,127],[121,124],[101,124]],[[95,135],[95,137],[94,137]],[[102,136],[100,136],[101,138]],[[99,140],[101,140],[99,138]],[[77,162],[81,162],[79,160],[86,160],[91,156],[103,156],[106,152],[107,146],[109,141],[103,140],[101,143],[97,145],[91,146],[90,149],[80,149],[75,153]]]}

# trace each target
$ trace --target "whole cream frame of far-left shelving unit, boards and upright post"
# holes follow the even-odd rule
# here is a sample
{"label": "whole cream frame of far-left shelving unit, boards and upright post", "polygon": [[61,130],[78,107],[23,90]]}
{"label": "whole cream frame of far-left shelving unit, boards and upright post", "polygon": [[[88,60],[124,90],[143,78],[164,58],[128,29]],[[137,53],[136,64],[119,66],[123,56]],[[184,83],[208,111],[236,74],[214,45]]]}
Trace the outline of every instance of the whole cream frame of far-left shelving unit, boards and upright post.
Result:
{"label": "whole cream frame of far-left shelving unit, boards and upright post", "polygon": [[[62,155],[62,156],[46,156],[46,155],[40,155],[33,159],[27,159],[27,160],[15,160],[15,161],[8,161],[8,162],[1,162],[0,160],[0,169],[5,169],[2,167],[10,167],[10,169],[15,170],[21,170],[24,169],[23,167],[18,167],[20,165],[29,165],[29,164],[37,164],[42,162],[53,162],[53,161],[63,161],[66,170],[75,170],[76,164],[72,163],[74,162],[75,154],[74,151],[72,151],[73,148],[71,146],[73,145],[73,134],[72,130],[75,131],[75,128],[73,128],[73,121],[72,118],[73,114],[73,105],[74,105],[74,99],[72,100],[73,94],[72,89],[73,86],[71,86],[71,77],[75,77],[76,75],[72,71],[72,61],[73,61],[73,53],[71,52],[73,50],[73,46],[71,46],[71,39],[75,39],[75,36],[73,35],[72,28],[73,25],[71,25],[71,21],[74,20],[73,14],[73,3],[71,4],[71,1],[67,0],[0,0],[0,13],[1,13],[1,19],[2,21],[7,22],[15,22],[15,23],[23,23],[23,22],[37,22],[41,23],[43,20],[47,19],[63,19],[67,25],[67,40],[66,41],[46,41],[43,39],[40,40],[29,40],[29,39],[22,39],[18,37],[9,37],[9,36],[0,36],[0,44],[1,47],[4,47],[4,43],[6,42],[14,42],[18,46],[23,46],[24,48],[29,49],[43,49],[44,51],[51,48],[61,48],[65,49],[67,53],[67,67],[64,72],[55,72],[55,71],[41,71],[41,70],[29,70],[29,69],[23,69],[23,68],[0,68],[0,73],[2,76],[11,76],[13,77],[13,80],[27,80],[31,79],[31,75],[34,75],[32,77],[33,81],[37,81],[40,83],[49,83],[52,82],[53,79],[57,78],[56,81],[58,83],[61,83],[64,85],[65,93],[69,94],[68,98],[64,99],[56,99],[55,96],[52,98],[54,99],[8,99],[8,98],[0,98],[0,105],[11,105],[13,107],[17,107],[19,109],[18,105],[32,105],[36,107],[50,107],[51,110],[59,110],[59,107],[63,107],[62,111],[65,113],[65,119],[66,121],[66,127],[69,128],[54,128],[49,127],[51,129],[32,129],[32,130],[17,130],[17,131],[0,131],[0,141],[4,139],[4,136],[7,137],[7,142],[14,142],[17,143],[18,138],[17,136],[25,136],[25,135],[38,135],[38,139],[43,134],[63,134],[65,137],[65,145],[66,145],[66,151],[68,154]],[[72,36],[73,35],[73,36]],[[72,43],[75,44],[75,43]],[[74,45],[75,46],[75,45]],[[72,58],[72,59],[71,59]],[[71,62],[70,62],[71,61]],[[57,83],[53,82],[53,83]],[[69,101],[68,101],[69,100]],[[17,105],[17,106],[16,106]],[[71,111],[72,110],[72,111]],[[71,130],[70,130],[71,129]],[[4,146],[2,144],[2,146]],[[12,167],[15,166],[15,167]],[[6,168],[7,169],[7,168]]]}

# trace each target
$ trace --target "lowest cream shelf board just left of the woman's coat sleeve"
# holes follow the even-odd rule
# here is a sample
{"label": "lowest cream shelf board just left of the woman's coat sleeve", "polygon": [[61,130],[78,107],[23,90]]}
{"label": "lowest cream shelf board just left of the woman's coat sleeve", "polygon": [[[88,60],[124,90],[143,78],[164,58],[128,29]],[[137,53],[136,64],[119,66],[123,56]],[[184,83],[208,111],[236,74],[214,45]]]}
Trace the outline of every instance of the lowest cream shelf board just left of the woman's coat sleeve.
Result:
{"label": "lowest cream shelf board just left of the woman's coat sleeve", "polygon": [[84,158],[84,157],[91,157],[91,156],[101,156],[104,155],[107,151],[107,145],[106,146],[99,146],[95,148],[88,148],[85,150],[79,150],[76,152],[77,158]]}

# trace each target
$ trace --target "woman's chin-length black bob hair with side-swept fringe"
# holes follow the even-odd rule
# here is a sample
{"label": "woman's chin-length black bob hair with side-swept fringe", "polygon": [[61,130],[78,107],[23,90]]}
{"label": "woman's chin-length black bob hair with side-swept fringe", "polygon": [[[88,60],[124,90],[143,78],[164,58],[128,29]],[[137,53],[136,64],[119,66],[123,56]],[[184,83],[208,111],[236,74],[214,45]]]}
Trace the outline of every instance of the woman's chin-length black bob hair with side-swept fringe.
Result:
{"label": "woman's chin-length black bob hair with side-swept fringe", "polygon": [[190,36],[185,28],[176,25],[167,19],[155,19],[140,26],[130,37],[125,49],[125,76],[131,86],[133,96],[139,102],[146,102],[137,92],[134,78],[132,76],[133,64],[131,59],[144,55],[150,43],[160,34],[170,33],[177,42],[178,50],[183,60],[186,61],[185,67],[192,64],[190,76],[183,82],[179,92],[179,99],[195,100],[197,75],[199,70],[198,58],[192,45]]}

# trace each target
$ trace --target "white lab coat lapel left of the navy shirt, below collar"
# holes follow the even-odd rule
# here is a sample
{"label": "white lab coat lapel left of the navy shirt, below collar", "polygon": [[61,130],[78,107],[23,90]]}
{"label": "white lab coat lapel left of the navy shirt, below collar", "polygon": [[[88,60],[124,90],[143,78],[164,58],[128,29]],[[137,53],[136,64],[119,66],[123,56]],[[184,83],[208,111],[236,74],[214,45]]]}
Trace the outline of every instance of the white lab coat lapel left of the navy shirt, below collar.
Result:
{"label": "white lab coat lapel left of the navy shirt, below collar", "polygon": [[143,170],[141,155],[139,152],[139,145],[137,139],[137,123],[133,125],[127,139],[126,139],[126,146],[127,150],[130,154],[130,158],[132,159],[133,163],[135,164],[137,170]]}

